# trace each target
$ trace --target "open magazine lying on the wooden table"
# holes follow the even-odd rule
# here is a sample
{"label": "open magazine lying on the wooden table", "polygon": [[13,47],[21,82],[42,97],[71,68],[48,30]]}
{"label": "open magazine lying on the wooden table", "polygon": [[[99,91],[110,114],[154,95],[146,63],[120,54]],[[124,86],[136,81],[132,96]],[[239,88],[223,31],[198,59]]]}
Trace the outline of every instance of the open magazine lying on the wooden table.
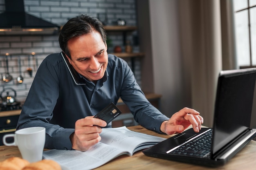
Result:
{"label": "open magazine lying on the wooden table", "polygon": [[120,156],[149,148],[165,138],[134,132],[125,126],[119,128],[103,128],[101,141],[89,150],[47,150],[43,159],[52,159],[70,170],[90,170],[102,166]]}

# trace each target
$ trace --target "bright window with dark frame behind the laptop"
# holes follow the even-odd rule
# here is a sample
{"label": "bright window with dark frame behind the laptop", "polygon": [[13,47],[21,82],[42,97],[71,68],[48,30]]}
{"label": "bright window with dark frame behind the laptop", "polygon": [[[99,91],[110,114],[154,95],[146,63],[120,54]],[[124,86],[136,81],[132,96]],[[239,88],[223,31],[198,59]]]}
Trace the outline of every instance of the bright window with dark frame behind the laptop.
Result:
{"label": "bright window with dark frame behind the laptop", "polygon": [[256,67],[256,0],[233,0],[233,9],[238,67]]}

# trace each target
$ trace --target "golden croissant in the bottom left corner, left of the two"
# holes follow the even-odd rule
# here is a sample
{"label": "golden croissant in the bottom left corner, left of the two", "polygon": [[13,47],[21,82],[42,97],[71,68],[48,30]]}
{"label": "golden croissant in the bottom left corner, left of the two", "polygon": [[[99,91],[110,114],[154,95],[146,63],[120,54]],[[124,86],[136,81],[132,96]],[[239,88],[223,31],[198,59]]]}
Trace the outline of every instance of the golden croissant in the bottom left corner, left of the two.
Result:
{"label": "golden croissant in the bottom left corner, left of the two", "polygon": [[21,170],[29,165],[29,161],[19,157],[11,157],[0,162],[0,170]]}

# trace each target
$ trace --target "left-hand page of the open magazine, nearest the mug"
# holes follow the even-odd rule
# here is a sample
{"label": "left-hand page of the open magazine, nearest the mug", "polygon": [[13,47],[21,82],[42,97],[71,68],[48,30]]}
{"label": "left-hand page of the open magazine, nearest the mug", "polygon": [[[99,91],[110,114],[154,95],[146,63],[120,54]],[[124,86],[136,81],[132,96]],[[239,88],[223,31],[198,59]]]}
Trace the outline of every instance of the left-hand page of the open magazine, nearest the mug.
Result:
{"label": "left-hand page of the open magazine, nearest the mug", "polygon": [[69,170],[90,170],[127,153],[99,142],[85,152],[79,150],[47,150],[43,152],[43,158],[52,159]]}

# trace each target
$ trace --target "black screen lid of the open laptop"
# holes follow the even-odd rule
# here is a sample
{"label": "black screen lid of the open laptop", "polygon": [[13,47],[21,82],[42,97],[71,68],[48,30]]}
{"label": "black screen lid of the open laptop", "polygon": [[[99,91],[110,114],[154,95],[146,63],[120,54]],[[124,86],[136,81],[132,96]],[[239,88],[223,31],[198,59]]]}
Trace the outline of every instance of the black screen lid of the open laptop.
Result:
{"label": "black screen lid of the open laptop", "polygon": [[214,155],[250,126],[256,68],[221,71],[213,120]]}

